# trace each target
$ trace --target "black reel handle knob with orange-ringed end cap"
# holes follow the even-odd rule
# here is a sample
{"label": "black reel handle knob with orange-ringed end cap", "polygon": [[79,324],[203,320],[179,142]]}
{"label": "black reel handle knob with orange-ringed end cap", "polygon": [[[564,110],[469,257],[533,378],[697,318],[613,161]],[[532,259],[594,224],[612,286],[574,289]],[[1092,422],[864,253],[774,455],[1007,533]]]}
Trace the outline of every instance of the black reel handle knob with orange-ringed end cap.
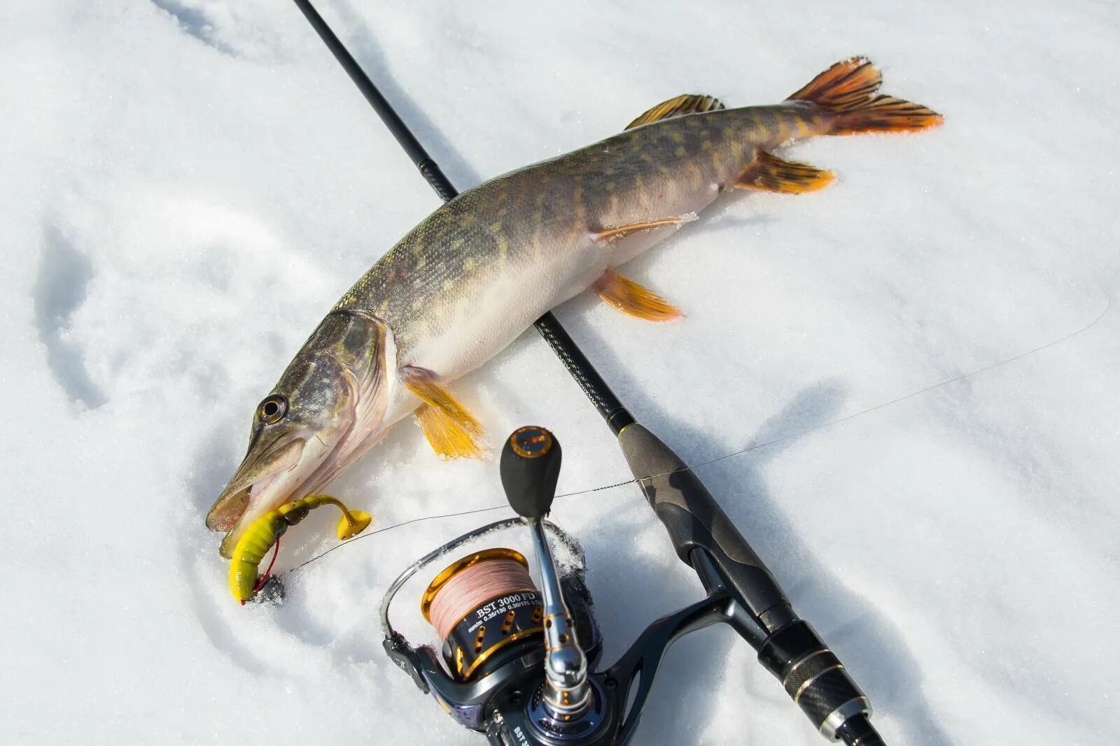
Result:
{"label": "black reel handle knob with orange-ringed end cap", "polygon": [[498,466],[506,500],[522,518],[543,518],[560,479],[560,442],[543,427],[519,427],[505,441]]}

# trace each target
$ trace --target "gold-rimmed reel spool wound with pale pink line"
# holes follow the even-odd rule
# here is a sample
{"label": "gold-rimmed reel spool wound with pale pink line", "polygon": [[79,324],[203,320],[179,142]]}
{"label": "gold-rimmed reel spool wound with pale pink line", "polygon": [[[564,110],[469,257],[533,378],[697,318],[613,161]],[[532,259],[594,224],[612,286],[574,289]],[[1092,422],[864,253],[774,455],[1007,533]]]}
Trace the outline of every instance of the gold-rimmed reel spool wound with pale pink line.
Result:
{"label": "gold-rimmed reel spool wound with pale pink line", "polygon": [[458,681],[544,646],[544,605],[529,563],[514,549],[483,549],[452,563],[428,585],[420,612]]}

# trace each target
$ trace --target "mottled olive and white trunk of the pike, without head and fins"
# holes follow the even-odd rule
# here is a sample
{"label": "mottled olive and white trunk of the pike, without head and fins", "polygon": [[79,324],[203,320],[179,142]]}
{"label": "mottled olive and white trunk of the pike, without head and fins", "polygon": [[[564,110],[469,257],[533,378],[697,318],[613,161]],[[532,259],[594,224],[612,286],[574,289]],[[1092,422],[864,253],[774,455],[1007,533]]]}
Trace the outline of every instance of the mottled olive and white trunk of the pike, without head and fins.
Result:
{"label": "mottled olive and white trunk of the pike, without head and fins", "polygon": [[698,214],[757,148],[822,120],[797,104],[692,114],[492,179],[413,228],[335,308],[384,320],[402,362],[458,378],[680,224],[605,242],[599,232]]}

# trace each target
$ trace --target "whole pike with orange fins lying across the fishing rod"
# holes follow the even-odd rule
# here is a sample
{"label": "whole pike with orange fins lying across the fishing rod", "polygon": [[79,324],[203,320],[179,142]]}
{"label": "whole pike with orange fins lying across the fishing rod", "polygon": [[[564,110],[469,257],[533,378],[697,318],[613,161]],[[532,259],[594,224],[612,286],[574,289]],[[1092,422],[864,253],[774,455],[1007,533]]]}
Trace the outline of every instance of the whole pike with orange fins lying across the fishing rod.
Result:
{"label": "whole pike with orange fins lying across the fishing rod", "polygon": [[727,189],[799,193],[832,181],[774,149],[941,123],[925,106],[880,95],[880,82],[868,60],[852,58],[773,106],[678,96],[620,134],[432,213],[343,295],[256,407],[249,452],[206,517],[226,532],[222,554],[253,520],[325,488],[411,414],[436,453],[482,455],[483,427],[448,384],[568,299],[591,289],[634,317],[680,315],[616,267]]}

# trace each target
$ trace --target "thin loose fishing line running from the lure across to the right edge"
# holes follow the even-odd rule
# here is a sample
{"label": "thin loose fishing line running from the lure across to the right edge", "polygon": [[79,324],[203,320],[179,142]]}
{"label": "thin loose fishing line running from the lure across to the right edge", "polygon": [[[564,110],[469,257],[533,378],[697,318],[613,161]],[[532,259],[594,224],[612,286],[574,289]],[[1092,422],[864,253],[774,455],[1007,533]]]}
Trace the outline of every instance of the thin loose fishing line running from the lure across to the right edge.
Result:
{"label": "thin loose fishing line running from the lure across to the right edge", "polygon": [[[1040,346],[1038,346],[1038,347],[1036,347],[1034,349],[1027,350],[1026,352],[1020,352],[1018,355],[1015,355],[1012,357],[1006,358],[1006,359],[1000,360],[998,362],[993,362],[990,366],[984,366],[983,368],[978,368],[977,370],[973,370],[971,372],[967,372],[967,374],[963,374],[961,376],[956,376],[955,378],[949,378],[949,379],[943,380],[941,383],[933,384],[932,386],[926,386],[925,388],[918,389],[916,391],[912,391],[909,394],[905,394],[903,396],[899,396],[899,397],[896,397],[894,399],[890,399],[889,402],[883,402],[881,404],[876,404],[875,406],[868,407],[867,409],[861,409],[859,412],[855,412],[855,413],[852,413],[850,415],[844,415],[843,417],[838,417],[837,419],[831,419],[831,421],[829,421],[827,423],[822,423],[820,425],[814,425],[812,427],[806,427],[805,429],[797,431],[796,433],[793,433],[791,435],[783,435],[782,437],[776,437],[776,438],[766,441],[765,443],[756,443],[755,445],[748,445],[745,448],[739,448],[738,451],[732,451],[730,453],[726,453],[724,455],[716,456],[715,459],[710,459],[708,461],[701,461],[701,462],[696,463],[696,464],[690,464],[690,465],[685,466],[684,469],[680,469],[680,470],[676,470],[676,471],[696,471],[696,470],[701,469],[703,466],[708,466],[710,464],[718,463],[718,462],[725,461],[727,459],[731,459],[731,457],[735,457],[735,456],[743,455],[744,453],[750,453],[752,451],[758,451],[760,448],[765,448],[765,447],[771,446],[771,445],[777,445],[778,443],[786,443],[788,441],[795,441],[799,437],[802,437],[803,435],[809,435],[810,433],[815,433],[818,431],[825,429],[827,427],[832,427],[833,425],[839,425],[841,423],[849,422],[849,421],[855,419],[857,417],[862,417],[866,414],[870,414],[872,412],[877,412],[879,409],[884,409],[884,408],[889,407],[892,405],[898,404],[899,402],[905,402],[906,399],[911,399],[911,398],[913,398],[915,396],[921,396],[922,394],[927,394],[930,391],[933,391],[935,389],[942,388],[944,386],[949,386],[951,384],[958,384],[958,383],[960,383],[962,380],[965,380],[968,378],[972,378],[973,376],[979,376],[980,374],[988,372],[989,370],[993,370],[993,369],[999,368],[1001,366],[1005,366],[1005,365],[1008,365],[1008,363],[1011,363],[1011,362],[1016,362],[1017,360],[1021,360],[1021,359],[1024,359],[1024,358],[1026,358],[1028,356],[1032,356],[1032,355],[1034,355],[1036,352],[1042,352],[1043,350],[1046,350],[1046,349],[1049,349],[1049,348],[1055,347],[1057,344],[1061,344],[1063,342],[1066,342],[1066,341],[1073,339],[1074,337],[1077,337],[1079,334],[1089,331],[1090,329],[1092,329],[1093,327],[1095,327],[1096,323],[1101,319],[1103,319],[1105,315],[1108,315],[1109,311],[1111,311],[1111,310],[1112,310],[1112,299],[1110,298],[1110,299],[1108,299],[1108,302],[1104,305],[1104,310],[1101,311],[1100,314],[1098,314],[1095,319],[1093,319],[1092,321],[1090,321],[1084,327],[1081,327],[1081,328],[1079,328],[1079,329],[1070,332],[1068,334],[1066,334],[1064,337],[1060,337],[1058,339],[1051,340],[1049,342],[1046,342],[1045,344],[1040,344]],[[651,474],[650,478],[647,478],[647,479],[654,479],[654,478],[657,478],[657,476],[664,476],[664,475],[666,475],[669,473],[671,473],[671,472],[664,472],[664,473],[661,473],[661,474]],[[635,483],[637,483],[637,481],[638,480],[636,480],[636,479],[628,479],[628,480],[624,480],[622,482],[615,482],[615,483],[612,483],[612,484],[603,484],[600,487],[592,487],[592,488],[589,488],[587,490],[579,490],[577,492],[564,492],[562,494],[558,494],[557,499],[560,499],[560,498],[573,498],[573,497],[577,497],[577,495],[580,495],[580,494],[591,494],[592,492],[601,492],[604,490],[613,490],[613,489],[618,488],[618,487],[625,487],[627,484],[635,484]],[[324,551],[323,554],[316,555],[315,557],[311,557],[310,559],[307,559],[307,560],[300,563],[299,565],[296,565],[295,567],[292,567],[288,572],[291,573],[291,572],[300,569],[301,567],[306,567],[307,565],[310,565],[311,563],[316,561],[317,559],[321,559],[323,557],[326,557],[327,555],[329,555],[335,549],[339,549],[342,547],[345,547],[348,544],[353,544],[354,541],[361,541],[362,539],[368,539],[372,536],[375,536],[377,533],[382,533],[384,531],[389,531],[389,530],[394,529],[394,528],[400,528],[402,526],[409,526],[411,523],[420,523],[422,521],[439,520],[439,519],[442,519],[442,518],[457,518],[459,516],[472,516],[472,514],[475,514],[475,513],[485,513],[485,512],[491,512],[491,511],[494,511],[494,510],[508,509],[508,507],[510,506],[507,503],[502,503],[502,504],[498,504],[498,506],[492,506],[489,508],[475,508],[473,510],[460,510],[458,512],[440,513],[438,516],[421,516],[419,518],[411,518],[411,519],[409,519],[407,521],[401,521],[400,523],[392,523],[390,526],[385,526],[384,528],[380,528],[380,529],[377,529],[375,531],[370,531],[370,532],[364,533],[362,536],[358,536],[358,537],[355,537],[353,539],[349,539],[348,541],[343,541],[342,544],[337,544],[337,545],[330,547],[329,549],[327,549],[326,551]]]}

